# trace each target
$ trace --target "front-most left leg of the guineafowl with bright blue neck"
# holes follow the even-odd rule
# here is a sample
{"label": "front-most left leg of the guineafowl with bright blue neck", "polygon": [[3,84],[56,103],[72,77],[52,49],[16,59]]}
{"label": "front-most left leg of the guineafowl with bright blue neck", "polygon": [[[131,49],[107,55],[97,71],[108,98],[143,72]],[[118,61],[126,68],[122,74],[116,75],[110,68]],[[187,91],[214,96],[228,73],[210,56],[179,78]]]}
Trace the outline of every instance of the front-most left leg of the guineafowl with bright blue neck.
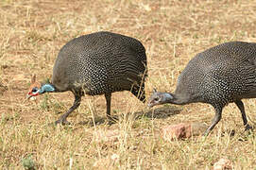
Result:
{"label": "front-most left leg of the guineafowl with bright blue neck", "polygon": [[81,96],[78,95],[78,94],[74,94],[75,95],[75,101],[74,101],[74,104],[73,106],[67,111],[65,112],[64,114],[62,114],[60,116],[60,119],[58,121],[55,122],[55,124],[61,124],[61,125],[68,125],[70,124],[68,121],[67,121],[67,117],[68,115],[73,112],[74,110],[76,110],[78,108],[78,106],[80,105],[81,103]]}

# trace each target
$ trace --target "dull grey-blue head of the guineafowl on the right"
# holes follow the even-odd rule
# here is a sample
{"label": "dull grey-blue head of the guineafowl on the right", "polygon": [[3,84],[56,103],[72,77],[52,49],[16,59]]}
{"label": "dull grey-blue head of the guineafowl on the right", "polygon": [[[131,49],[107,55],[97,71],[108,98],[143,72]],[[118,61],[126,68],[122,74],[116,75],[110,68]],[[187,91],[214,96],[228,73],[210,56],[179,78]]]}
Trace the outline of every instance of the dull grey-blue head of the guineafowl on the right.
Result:
{"label": "dull grey-blue head of the guineafowl on the right", "polygon": [[147,101],[147,106],[152,108],[156,105],[162,105],[164,103],[169,103],[173,99],[173,95],[171,93],[161,93],[157,92],[156,89],[153,90],[153,93],[149,97]]}

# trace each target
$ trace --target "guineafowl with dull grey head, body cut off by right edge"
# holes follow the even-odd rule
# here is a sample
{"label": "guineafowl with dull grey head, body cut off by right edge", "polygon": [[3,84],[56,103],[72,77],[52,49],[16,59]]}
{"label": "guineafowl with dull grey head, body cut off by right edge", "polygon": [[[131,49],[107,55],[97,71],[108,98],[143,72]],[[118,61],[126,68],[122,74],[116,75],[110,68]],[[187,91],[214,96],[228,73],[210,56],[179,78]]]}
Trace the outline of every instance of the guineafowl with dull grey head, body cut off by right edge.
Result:
{"label": "guineafowl with dull grey head, body cut off by right edge", "polygon": [[175,93],[154,93],[148,106],[172,103],[208,103],[215,110],[207,135],[220,121],[222,109],[234,102],[242,113],[244,126],[247,116],[241,99],[256,97],[256,43],[226,42],[214,46],[191,59],[179,75]]}

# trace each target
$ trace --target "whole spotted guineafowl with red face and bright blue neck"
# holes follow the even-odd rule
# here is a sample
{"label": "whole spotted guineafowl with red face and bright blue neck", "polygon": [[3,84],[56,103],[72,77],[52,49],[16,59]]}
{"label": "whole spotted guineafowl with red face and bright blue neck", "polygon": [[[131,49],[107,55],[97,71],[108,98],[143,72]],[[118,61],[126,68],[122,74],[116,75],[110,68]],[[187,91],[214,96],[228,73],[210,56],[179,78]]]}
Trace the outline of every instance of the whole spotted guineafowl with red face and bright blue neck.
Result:
{"label": "whole spotted guineafowl with red face and bright blue neck", "polygon": [[111,93],[130,91],[145,101],[145,47],[136,39],[111,32],[96,32],[67,42],[56,59],[51,83],[32,78],[27,97],[71,91],[73,106],[56,121],[67,124],[68,115],[80,105],[81,96],[105,94],[111,116]]}

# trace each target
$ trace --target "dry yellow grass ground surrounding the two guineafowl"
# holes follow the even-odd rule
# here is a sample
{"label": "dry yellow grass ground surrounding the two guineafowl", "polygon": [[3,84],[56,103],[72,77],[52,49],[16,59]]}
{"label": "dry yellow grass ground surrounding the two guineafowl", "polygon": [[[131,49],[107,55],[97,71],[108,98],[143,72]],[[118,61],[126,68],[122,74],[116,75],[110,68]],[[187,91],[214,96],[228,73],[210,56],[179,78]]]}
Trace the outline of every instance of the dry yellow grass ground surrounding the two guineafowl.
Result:
{"label": "dry yellow grass ground surrounding the two guineafowl", "polygon": [[[174,91],[179,73],[196,53],[220,42],[256,42],[255,11],[253,0],[0,1],[0,168],[212,169],[213,162],[223,157],[235,169],[255,168],[255,136],[244,133],[233,104],[225,108],[208,138],[165,142],[159,137],[161,127],[179,122],[210,124],[213,109],[203,104],[169,106],[168,110],[178,111],[134,120],[133,113],[145,112],[145,105],[128,92],[114,93],[112,114],[131,114],[109,127],[104,123],[104,96],[86,96],[69,118],[74,125],[53,127],[49,124],[72,105],[71,93],[26,101],[32,74],[42,80],[50,77],[65,42],[98,30],[144,43],[147,95],[153,87]],[[255,121],[255,100],[245,104]],[[117,137],[98,141],[98,130],[112,130]],[[230,137],[231,130],[235,134]]]}

